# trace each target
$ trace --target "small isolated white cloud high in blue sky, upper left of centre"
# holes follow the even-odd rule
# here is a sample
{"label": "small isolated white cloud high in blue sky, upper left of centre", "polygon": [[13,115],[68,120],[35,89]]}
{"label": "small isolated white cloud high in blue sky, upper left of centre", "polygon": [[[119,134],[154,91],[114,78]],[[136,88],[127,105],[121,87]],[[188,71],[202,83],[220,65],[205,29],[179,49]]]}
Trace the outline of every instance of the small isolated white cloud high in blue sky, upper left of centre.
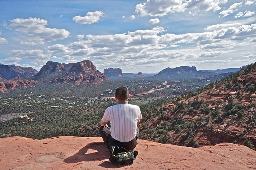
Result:
{"label": "small isolated white cloud high in blue sky, upper left of centre", "polygon": [[75,16],[73,21],[79,24],[92,24],[99,22],[100,18],[103,17],[104,13],[102,11],[95,11],[95,12],[87,12],[85,17]]}

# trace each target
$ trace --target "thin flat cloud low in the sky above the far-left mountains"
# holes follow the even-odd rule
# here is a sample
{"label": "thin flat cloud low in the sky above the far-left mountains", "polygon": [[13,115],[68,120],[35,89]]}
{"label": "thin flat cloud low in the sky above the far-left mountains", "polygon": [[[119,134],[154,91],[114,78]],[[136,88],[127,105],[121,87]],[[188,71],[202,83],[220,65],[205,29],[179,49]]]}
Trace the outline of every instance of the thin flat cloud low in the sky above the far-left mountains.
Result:
{"label": "thin flat cloud low in the sky above the far-left mountains", "polygon": [[15,57],[22,57],[26,59],[49,60],[51,54],[43,54],[42,50],[12,50],[7,52],[8,55],[15,55]]}

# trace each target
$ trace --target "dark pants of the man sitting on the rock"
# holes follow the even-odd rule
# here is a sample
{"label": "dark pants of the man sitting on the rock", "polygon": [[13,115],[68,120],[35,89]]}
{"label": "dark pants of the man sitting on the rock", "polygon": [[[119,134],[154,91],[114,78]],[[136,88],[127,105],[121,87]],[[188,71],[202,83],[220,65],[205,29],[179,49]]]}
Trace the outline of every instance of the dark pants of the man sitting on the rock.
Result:
{"label": "dark pants of the man sitting on the rock", "polygon": [[123,147],[127,150],[133,150],[137,145],[137,139],[139,137],[139,128],[137,127],[137,134],[133,140],[130,142],[119,142],[116,139],[112,138],[110,135],[110,129],[106,126],[101,126],[99,129],[100,136],[103,138],[104,143],[108,146],[108,149],[110,149],[111,145],[117,145],[120,147]]}

